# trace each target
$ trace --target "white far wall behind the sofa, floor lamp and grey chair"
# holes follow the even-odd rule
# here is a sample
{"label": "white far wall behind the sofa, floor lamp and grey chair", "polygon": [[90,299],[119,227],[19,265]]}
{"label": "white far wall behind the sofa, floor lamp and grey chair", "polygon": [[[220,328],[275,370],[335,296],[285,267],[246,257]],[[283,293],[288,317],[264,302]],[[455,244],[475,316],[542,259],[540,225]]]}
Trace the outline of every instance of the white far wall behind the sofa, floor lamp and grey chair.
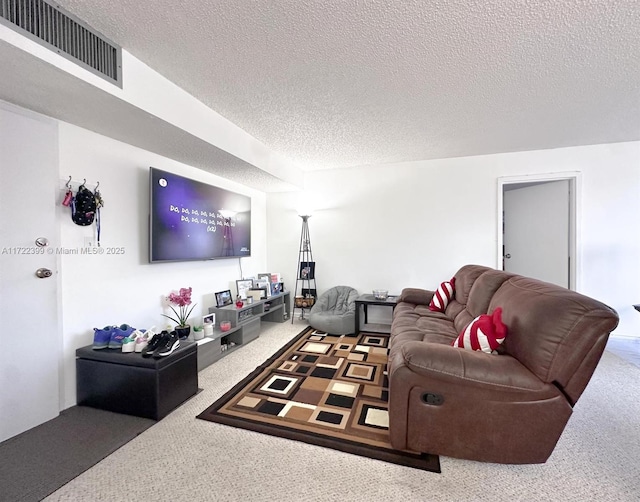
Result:
{"label": "white far wall behind the sofa, floor lamp and grey chair", "polygon": [[267,196],[269,267],[295,287],[306,205],[319,292],[434,289],[464,264],[497,266],[498,177],[573,171],[579,289],[618,311],[616,335],[640,336],[640,142],[308,173],[304,192]]}

